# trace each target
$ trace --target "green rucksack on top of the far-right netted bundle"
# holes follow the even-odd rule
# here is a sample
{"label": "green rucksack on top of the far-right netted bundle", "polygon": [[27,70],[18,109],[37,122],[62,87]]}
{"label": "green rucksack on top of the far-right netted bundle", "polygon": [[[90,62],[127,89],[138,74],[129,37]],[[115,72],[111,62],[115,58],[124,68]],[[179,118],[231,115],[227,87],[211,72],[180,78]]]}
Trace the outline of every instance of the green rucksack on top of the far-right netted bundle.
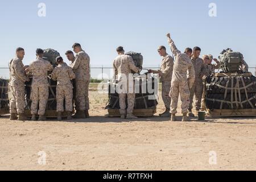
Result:
{"label": "green rucksack on top of the far-right netted bundle", "polygon": [[243,64],[243,55],[240,52],[233,52],[227,49],[220,55],[220,68],[226,73],[240,72]]}

